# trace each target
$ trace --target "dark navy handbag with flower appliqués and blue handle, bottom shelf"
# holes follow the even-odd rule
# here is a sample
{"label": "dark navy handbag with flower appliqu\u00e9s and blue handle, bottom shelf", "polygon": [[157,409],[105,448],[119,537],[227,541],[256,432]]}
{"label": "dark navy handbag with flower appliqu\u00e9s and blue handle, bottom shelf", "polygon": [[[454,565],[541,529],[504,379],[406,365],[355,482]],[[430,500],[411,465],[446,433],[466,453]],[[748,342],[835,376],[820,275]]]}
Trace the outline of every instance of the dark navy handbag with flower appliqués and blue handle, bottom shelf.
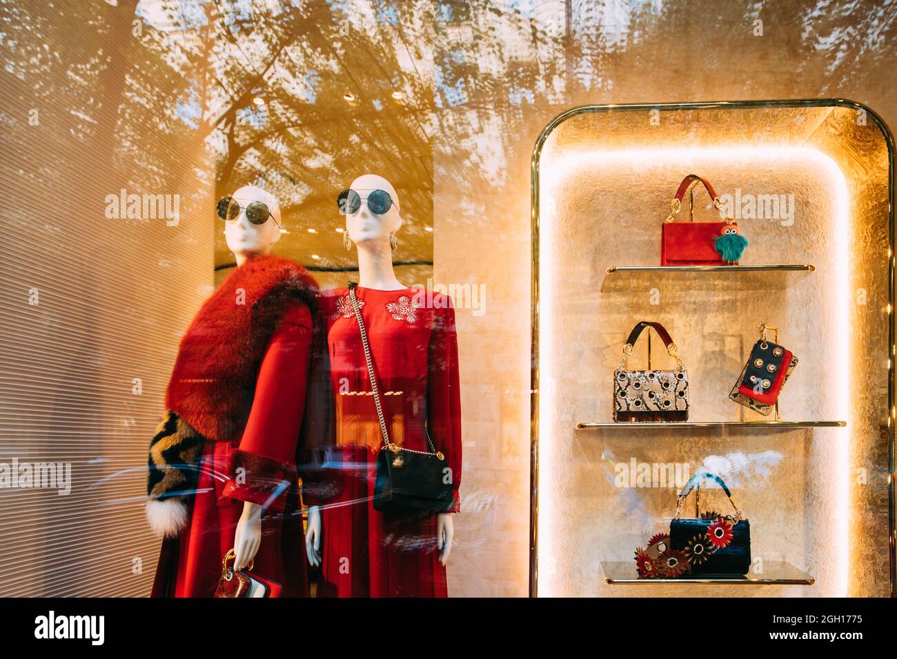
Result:
{"label": "dark navy handbag with flower appliqu\u00e9s and blue handle, bottom shelf", "polygon": [[[700,518],[679,518],[685,498],[704,479],[719,483],[735,515],[704,513]],[[735,505],[726,483],[712,473],[696,473],[685,483],[676,500],[675,518],[670,520],[669,537],[671,550],[681,552],[680,559],[687,561],[691,575],[738,577],[751,568],[751,523]]]}

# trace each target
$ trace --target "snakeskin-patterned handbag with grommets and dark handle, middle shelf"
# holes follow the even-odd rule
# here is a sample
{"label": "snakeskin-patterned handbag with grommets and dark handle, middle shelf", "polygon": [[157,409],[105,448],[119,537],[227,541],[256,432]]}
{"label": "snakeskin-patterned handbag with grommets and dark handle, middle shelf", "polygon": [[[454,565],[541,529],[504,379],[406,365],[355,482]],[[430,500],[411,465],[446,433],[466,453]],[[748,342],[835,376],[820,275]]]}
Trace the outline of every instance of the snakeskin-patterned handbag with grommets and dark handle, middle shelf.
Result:
{"label": "snakeskin-patterned handbag with grommets and dark handle, middle shelf", "polygon": [[[641,331],[651,327],[676,361],[673,370],[630,370],[627,361]],[[623,359],[614,371],[614,421],[688,421],[688,371],[678,348],[660,323],[641,321],[623,345]]]}

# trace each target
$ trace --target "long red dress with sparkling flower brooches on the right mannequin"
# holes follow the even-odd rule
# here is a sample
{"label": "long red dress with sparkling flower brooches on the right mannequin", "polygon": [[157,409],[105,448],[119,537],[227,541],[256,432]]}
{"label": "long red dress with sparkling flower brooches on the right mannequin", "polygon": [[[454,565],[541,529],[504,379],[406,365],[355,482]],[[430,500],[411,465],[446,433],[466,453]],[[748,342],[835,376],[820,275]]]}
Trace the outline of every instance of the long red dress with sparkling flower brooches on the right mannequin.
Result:
{"label": "long red dress with sparkling flower brooches on the right mannequin", "polygon": [[[429,450],[427,422],[446,456],[455,490],[461,483],[461,405],[457,335],[451,299],[424,290],[358,287],[374,372],[390,441]],[[383,438],[347,290],[324,293],[334,391],[335,443],[343,478],[323,507],[321,596],[445,597],[446,569],[436,547],[436,517],[380,513],[372,505],[376,459]]]}

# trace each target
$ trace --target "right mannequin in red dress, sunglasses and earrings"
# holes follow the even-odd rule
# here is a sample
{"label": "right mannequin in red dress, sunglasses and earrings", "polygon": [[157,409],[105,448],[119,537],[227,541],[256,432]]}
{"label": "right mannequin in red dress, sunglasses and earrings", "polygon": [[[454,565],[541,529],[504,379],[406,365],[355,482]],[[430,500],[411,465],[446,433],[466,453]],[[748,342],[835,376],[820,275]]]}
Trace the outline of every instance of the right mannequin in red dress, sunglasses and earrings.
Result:
{"label": "right mannequin in red dress, sunglasses and earrings", "polygon": [[[356,178],[338,204],[345,216],[344,245],[357,249],[360,282],[352,288],[354,300],[345,288],[322,297],[340,473],[333,499],[309,511],[309,561],[321,567],[320,596],[444,597],[461,483],[455,311],[448,296],[427,296],[396,278],[392,257],[402,217],[388,180],[372,174]],[[356,306],[369,339],[373,377]],[[386,441],[418,455],[440,456],[444,482],[451,486],[446,512],[378,509],[377,458],[387,450]]]}

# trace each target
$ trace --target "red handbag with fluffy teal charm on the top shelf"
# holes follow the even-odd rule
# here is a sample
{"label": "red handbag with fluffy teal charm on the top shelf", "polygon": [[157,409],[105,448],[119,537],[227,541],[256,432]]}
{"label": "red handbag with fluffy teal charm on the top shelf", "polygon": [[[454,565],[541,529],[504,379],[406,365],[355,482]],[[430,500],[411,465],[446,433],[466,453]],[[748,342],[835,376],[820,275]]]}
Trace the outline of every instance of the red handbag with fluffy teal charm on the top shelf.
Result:
{"label": "red handbag with fluffy teal charm on the top shelf", "polygon": [[[692,186],[701,182],[722,221],[675,221],[682,200]],[[747,247],[747,238],[738,232],[736,221],[723,212],[722,203],[710,183],[695,174],[685,177],[670,203],[660,234],[661,265],[737,265]]]}

